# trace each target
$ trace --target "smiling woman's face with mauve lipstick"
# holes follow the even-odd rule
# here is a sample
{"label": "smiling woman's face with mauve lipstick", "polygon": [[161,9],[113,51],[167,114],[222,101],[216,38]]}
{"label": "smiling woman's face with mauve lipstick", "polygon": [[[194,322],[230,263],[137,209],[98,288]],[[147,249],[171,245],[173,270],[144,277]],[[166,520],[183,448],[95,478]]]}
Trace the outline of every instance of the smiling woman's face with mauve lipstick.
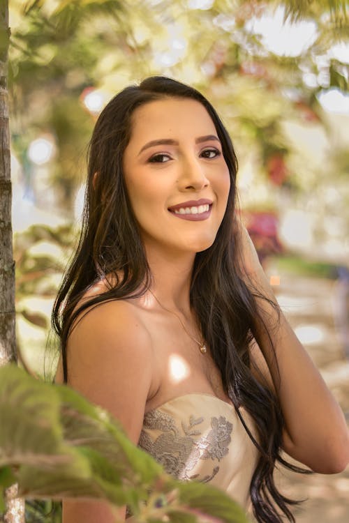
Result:
{"label": "smiling woman's face with mauve lipstick", "polygon": [[200,252],[212,245],[230,175],[207,110],[167,98],[133,113],[124,178],[146,248]]}

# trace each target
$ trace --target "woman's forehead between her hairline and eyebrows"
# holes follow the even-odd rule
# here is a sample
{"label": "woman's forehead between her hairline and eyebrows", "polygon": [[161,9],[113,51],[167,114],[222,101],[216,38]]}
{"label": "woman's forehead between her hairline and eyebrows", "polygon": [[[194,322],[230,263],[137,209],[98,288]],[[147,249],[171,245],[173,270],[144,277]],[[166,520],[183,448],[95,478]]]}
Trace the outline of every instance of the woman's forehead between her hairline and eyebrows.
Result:
{"label": "woman's forehead between her hairline and eyebrows", "polygon": [[157,138],[198,137],[216,134],[216,128],[205,107],[188,98],[164,98],[135,109],[131,141]]}

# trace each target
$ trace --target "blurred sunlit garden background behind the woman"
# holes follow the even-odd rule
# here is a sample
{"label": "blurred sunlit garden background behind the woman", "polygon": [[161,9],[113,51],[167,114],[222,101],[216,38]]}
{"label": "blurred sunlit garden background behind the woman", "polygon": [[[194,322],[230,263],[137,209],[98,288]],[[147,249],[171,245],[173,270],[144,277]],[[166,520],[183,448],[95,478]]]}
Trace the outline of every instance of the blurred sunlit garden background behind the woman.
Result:
{"label": "blurred sunlit garden background behind the woman", "polygon": [[[17,343],[36,374],[77,242],[85,156],[112,96],[148,75],[197,87],[239,158],[240,206],[299,339],[349,419],[349,15],[345,1],[12,0]],[[349,471],[281,471],[297,523],[349,521]],[[48,520],[47,520],[48,521]]]}

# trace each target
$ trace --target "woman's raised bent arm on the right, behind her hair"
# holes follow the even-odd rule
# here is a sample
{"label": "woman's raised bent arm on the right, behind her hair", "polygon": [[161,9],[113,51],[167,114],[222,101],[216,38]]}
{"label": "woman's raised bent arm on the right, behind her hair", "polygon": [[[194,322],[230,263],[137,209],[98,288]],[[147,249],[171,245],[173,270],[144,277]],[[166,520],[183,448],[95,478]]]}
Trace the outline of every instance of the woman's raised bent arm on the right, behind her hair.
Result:
{"label": "woman's raised bent arm on the right, behind her hair", "polygon": [[[262,295],[276,302],[246,229],[242,231],[242,257],[246,282],[252,282]],[[269,372],[279,395],[285,418],[284,450],[315,472],[343,471],[349,462],[349,432],[339,404],[283,313],[278,314],[262,298],[257,301],[265,326],[261,321],[257,324],[256,338],[267,372],[258,357],[255,364],[267,381]]]}

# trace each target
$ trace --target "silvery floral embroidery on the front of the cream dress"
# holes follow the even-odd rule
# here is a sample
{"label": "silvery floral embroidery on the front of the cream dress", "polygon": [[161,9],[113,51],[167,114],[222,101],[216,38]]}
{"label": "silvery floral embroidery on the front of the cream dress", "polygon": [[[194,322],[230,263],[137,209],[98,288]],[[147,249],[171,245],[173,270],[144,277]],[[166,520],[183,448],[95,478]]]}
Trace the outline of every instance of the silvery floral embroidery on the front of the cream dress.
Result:
{"label": "silvery floral embroidery on the front of the cream dress", "polygon": [[[144,416],[143,430],[138,445],[161,463],[168,473],[179,480],[210,481],[219,470],[213,467],[211,474],[203,478],[191,471],[199,460],[220,461],[229,452],[232,423],[223,416],[211,418],[211,430],[201,436],[200,424],[204,418],[189,417],[189,423],[181,423],[184,435],[181,435],[174,418],[156,409]],[[160,430],[154,441],[144,429]],[[200,437],[201,436],[201,437]]]}

